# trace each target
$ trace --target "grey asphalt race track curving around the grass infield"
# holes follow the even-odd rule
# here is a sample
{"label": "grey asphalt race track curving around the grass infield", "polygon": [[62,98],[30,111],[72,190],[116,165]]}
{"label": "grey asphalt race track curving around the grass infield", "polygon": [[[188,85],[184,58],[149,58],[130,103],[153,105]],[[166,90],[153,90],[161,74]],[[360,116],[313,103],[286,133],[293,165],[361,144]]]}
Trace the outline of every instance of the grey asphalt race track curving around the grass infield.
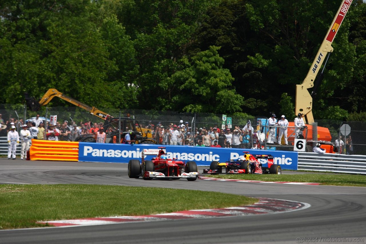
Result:
{"label": "grey asphalt race track curving around the grass infield", "polygon": [[[202,167],[199,171],[202,172]],[[198,189],[293,200],[309,203],[311,207],[243,217],[2,230],[0,243],[299,243],[296,238],[308,239],[303,243],[312,243],[311,238],[318,238],[320,243],[326,242],[320,238],[330,243],[349,243],[344,238],[366,240],[365,187],[183,179],[144,181],[128,178],[127,164],[0,159],[0,184],[68,183]],[[346,241],[342,242],[342,238]]]}

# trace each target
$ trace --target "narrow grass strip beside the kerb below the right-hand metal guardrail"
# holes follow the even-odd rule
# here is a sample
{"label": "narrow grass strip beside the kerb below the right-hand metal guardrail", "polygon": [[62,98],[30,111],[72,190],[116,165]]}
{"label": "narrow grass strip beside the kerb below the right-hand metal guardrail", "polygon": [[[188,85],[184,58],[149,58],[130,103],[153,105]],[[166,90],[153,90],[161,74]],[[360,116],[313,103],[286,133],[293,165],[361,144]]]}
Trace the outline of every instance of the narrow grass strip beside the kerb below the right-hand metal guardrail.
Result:
{"label": "narrow grass strip beside the kerb below the right-hand metal guardrail", "polygon": [[252,181],[315,182],[322,185],[366,186],[366,175],[350,174],[231,174],[205,175],[205,177]]}

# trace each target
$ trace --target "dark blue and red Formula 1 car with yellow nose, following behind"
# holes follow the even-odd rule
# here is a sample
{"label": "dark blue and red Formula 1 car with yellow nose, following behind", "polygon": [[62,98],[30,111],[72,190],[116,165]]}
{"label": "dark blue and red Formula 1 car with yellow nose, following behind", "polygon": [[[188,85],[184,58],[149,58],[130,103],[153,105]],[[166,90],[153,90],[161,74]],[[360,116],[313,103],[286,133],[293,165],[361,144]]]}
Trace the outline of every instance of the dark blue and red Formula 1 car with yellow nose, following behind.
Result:
{"label": "dark blue and red Formula 1 car with yellow nose, following behind", "polygon": [[[259,161],[264,159],[268,166],[262,167]],[[225,171],[223,171],[225,169]],[[203,174],[281,174],[281,166],[273,163],[271,155],[252,155],[244,152],[237,161],[230,160],[225,163],[213,161],[210,169],[204,169]]]}

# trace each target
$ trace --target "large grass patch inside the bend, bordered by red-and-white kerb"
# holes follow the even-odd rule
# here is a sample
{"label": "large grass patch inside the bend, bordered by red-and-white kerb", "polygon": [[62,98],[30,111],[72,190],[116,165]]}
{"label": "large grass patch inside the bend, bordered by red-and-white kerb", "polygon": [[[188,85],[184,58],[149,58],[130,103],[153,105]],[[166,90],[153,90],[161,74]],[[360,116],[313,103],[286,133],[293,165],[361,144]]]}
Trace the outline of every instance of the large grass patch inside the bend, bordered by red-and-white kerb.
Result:
{"label": "large grass patch inside the bend, bordered by red-and-white kerb", "polygon": [[36,221],[149,215],[246,206],[257,199],[217,192],[111,185],[0,185],[0,229]]}

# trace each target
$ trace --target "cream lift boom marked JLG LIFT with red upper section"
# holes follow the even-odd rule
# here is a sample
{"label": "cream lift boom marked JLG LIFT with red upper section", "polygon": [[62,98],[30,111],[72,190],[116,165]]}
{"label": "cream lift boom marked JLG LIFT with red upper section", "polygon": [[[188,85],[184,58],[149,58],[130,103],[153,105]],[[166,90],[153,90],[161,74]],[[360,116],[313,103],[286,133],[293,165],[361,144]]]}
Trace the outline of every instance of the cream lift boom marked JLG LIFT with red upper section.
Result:
{"label": "cream lift boom marked JLG LIFT with red upper section", "polygon": [[307,124],[314,122],[313,117],[313,96],[315,93],[310,94],[310,88],[314,87],[315,77],[317,76],[320,67],[322,66],[326,55],[333,52],[332,42],[339,30],[344,17],[346,16],[348,9],[352,3],[352,0],[343,0],[339,7],[336,16],[333,19],[332,25],[326,34],[324,41],[322,42],[317,55],[311,64],[310,70],[306,75],[305,80],[301,85],[296,85],[296,99],[295,99],[295,115],[298,113],[305,114],[305,120]]}

